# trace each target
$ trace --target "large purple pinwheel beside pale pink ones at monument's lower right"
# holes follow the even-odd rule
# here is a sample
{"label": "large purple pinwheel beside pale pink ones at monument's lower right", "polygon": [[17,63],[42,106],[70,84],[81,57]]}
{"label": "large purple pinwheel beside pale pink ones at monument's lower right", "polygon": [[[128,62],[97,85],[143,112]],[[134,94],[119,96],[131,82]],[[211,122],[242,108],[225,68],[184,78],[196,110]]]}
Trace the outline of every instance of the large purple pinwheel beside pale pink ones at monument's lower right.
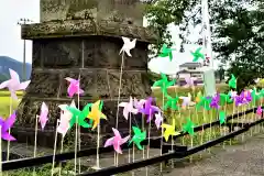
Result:
{"label": "large purple pinwheel beside pale pink ones at monument's lower right", "polygon": [[148,116],[146,121],[147,123],[152,120],[155,112],[161,112],[161,109],[156,106],[152,106],[152,102],[153,102],[153,98],[150,97],[145,101],[144,107],[139,109],[141,113]]}

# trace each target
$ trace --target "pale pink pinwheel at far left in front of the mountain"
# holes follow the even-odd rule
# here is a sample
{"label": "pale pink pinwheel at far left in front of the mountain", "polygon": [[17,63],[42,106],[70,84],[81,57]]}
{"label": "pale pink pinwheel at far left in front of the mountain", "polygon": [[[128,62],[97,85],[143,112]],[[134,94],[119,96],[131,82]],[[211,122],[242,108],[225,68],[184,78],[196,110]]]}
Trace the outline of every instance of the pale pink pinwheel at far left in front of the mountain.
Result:
{"label": "pale pink pinwheel at far left in front of the mountain", "polygon": [[9,73],[10,73],[11,78],[9,80],[3,81],[0,85],[0,89],[8,88],[11,94],[12,99],[16,100],[18,97],[15,95],[15,91],[25,90],[26,87],[30,85],[30,80],[20,82],[19,75],[13,69],[9,68]]}

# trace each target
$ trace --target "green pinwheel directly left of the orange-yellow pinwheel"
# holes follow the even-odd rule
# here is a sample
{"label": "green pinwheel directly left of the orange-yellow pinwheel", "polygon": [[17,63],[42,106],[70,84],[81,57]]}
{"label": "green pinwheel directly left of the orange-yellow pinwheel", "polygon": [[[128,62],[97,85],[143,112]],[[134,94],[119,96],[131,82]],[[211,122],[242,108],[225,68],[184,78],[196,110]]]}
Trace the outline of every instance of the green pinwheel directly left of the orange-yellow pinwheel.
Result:
{"label": "green pinwheel directly left of the orange-yellow pinwheel", "polygon": [[70,122],[69,122],[69,129],[72,129],[75,123],[81,125],[82,128],[91,128],[91,124],[85,121],[85,119],[90,112],[91,106],[92,103],[86,105],[82,111],[80,111],[76,107],[69,107],[69,106],[66,107],[66,109],[73,114],[73,118],[70,119]]}

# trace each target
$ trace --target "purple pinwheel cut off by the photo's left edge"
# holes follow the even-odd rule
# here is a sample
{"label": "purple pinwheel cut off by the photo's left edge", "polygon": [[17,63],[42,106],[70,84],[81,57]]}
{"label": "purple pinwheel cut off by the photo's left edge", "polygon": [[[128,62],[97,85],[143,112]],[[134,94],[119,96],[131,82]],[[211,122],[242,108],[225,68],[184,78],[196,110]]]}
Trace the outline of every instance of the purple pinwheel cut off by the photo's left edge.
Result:
{"label": "purple pinwheel cut off by the photo's left edge", "polygon": [[15,139],[8,132],[8,130],[13,125],[15,118],[16,118],[15,111],[7,120],[3,120],[2,118],[0,118],[0,127],[1,127],[1,135],[2,135],[1,139],[6,141],[15,141]]}

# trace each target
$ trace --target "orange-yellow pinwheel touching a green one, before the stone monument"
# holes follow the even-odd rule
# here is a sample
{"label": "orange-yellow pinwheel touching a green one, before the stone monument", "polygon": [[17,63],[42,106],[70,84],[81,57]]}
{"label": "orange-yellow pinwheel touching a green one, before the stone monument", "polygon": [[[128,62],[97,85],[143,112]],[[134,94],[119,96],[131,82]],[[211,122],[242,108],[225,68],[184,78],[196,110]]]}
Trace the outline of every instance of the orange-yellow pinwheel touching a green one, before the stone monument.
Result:
{"label": "orange-yellow pinwheel touching a green one, before the stone monument", "polygon": [[102,108],[102,103],[101,103],[100,100],[96,101],[91,106],[91,111],[87,116],[88,119],[94,121],[94,125],[92,125],[91,130],[95,130],[98,127],[98,124],[100,122],[100,119],[106,119],[107,120],[106,114],[103,114],[101,112],[101,108]]}

